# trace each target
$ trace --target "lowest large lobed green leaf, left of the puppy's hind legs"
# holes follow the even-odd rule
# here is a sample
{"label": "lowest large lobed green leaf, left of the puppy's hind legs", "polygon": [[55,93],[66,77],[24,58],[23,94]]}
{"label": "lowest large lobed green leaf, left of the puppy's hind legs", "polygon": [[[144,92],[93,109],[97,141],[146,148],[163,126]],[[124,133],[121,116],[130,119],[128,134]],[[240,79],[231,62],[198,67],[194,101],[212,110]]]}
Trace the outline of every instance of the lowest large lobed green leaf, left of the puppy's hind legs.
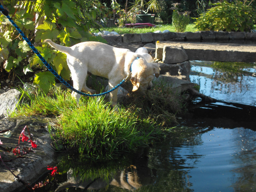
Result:
{"label": "lowest large lobed green leaf, left of the puppy's hind legs", "polygon": [[43,92],[47,94],[50,90],[50,84],[55,85],[54,75],[49,71],[39,72],[35,75],[36,77],[34,78],[34,83],[39,84]]}

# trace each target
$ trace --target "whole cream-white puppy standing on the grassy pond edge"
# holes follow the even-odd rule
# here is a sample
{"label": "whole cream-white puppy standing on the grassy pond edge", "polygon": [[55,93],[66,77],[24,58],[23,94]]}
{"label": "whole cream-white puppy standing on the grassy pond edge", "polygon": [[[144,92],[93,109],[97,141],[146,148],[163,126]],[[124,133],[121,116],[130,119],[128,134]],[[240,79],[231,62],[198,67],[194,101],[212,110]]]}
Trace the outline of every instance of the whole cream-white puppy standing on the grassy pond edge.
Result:
{"label": "whole cream-white puppy standing on the grassy pond edge", "polygon": [[[72,47],[58,45],[50,39],[44,40],[53,48],[67,55],[68,67],[71,71],[75,89],[94,94],[96,91],[86,86],[87,72],[108,78],[108,89],[112,89],[131,72],[132,91],[142,88],[150,89],[154,74],[159,76],[157,63],[148,63],[145,58],[128,49],[115,48],[100,42],[82,42]],[[110,102],[117,104],[117,89],[110,92]],[[80,95],[72,92],[77,101]]]}

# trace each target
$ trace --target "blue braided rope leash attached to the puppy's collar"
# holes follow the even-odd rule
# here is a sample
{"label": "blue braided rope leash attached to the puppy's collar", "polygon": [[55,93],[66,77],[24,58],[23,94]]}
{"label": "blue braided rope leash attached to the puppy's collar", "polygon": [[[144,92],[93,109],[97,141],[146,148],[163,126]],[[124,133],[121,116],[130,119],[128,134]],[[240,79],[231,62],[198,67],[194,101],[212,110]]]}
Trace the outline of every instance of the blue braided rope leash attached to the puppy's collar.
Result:
{"label": "blue braided rope leash attached to the puppy's collar", "polygon": [[[18,30],[18,32],[20,33],[20,35],[22,36],[22,38],[27,42],[28,46],[30,46],[30,48],[33,50],[33,52],[40,58],[40,60],[43,62],[43,64],[48,68],[48,70],[50,72],[52,72],[52,74],[54,74],[54,76],[60,80],[60,82],[62,82],[67,88],[71,89],[72,91],[83,95],[83,96],[88,96],[88,97],[96,97],[96,96],[102,96],[105,94],[108,94],[114,90],[116,90],[118,87],[120,87],[124,82],[126,82],[126,79],[129,77],[129,75],[124,78],[118,85],[116,85],[114,88],[104,92],[104,93],[100,93],[100,94],[86,94],[83,92],[80,92],[78,90],[76,90],[74,87],[72,87],[70,84],[68,84],[68,82],[66,82],[61,76],[58,75],[58,73],[56,71],[53,70],[53,68],[48,64],[48,62],[42,57],[42,55],[38,52],[38,50],[34,47],[34,45],[32,45],[32,43],[30,42],[30,40],[28,40],[28,38],[25,36],[25,34],[22,32],[22,30],[20,30],[20,28],[14,23],[14,21],[12,20],[12,18],[10,18],[8,11],[0,4],[0,12],[2,12],[2,14],[4,14],[9,21],[12,23],[12,25],[16,28],[16,30]],[[138,57],[136,58],[138,59]],[[130,67],[130,72],[131,72],[131,67]]]}

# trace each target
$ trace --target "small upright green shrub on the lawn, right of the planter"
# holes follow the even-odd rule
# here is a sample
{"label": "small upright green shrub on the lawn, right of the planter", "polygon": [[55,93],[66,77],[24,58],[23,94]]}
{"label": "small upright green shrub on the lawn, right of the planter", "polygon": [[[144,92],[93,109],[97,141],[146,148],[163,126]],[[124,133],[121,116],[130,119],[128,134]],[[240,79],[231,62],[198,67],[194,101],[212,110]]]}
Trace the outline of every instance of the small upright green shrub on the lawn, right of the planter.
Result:
{"label": "small upright green shrub on the lawn, right of the planter", "polygon": [[176,32],[184,32],[186,26],[189,24],[189,15],[187,12],[180,13],[178,10],[174,10],[172,13],[172,25],[174,26]]}

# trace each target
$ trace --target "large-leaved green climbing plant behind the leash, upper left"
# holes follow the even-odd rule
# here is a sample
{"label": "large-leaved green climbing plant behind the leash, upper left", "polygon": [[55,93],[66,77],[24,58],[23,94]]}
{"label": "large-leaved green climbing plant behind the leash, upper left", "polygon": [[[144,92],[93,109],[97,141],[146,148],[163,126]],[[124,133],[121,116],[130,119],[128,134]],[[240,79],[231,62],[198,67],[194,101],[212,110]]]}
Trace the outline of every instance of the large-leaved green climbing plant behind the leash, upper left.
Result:
{"label": "large-leaved green climbing plant behind the leash, upper left", "polygon": [[[14,22],[20,27],[28,39],[36,46],[38,51],[48,63],[58,72],[64,80],[70,79],[70,70],[66,63],[66,55],[52,50],[41,43],[50,38],[64,46],[72,46],[78,42],[101,41],[101,37],[90,34],[91,27],[99,28],[96,22],[104,13],[99,1],[3,1],[12,15]],[[8,74],[12,81],[18,75],[21,78],[33,76],[34,84],[39,84],[44,92],[48,92],[50,84],[55,84],[55,78],[47,72],[46,67],[31,51],[27,43],[18,34],[16,29],[4,15],[0,15],[0,78]],[[30,73],[32,72],[32,73]]]}

